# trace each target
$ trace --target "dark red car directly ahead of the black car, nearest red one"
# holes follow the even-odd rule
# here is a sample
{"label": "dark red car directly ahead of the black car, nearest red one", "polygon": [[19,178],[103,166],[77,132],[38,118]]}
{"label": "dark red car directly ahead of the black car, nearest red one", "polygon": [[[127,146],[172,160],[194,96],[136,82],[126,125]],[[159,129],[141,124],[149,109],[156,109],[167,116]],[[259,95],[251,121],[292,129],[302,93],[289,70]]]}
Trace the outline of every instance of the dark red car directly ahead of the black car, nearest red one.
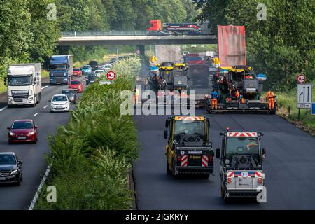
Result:
{"label": "dark red car directly ahead of the black car, nearest red one", "polygon": [[8,144],[14,142],[37,142],[37,126],[33,120],[15,120],[8,127]]}

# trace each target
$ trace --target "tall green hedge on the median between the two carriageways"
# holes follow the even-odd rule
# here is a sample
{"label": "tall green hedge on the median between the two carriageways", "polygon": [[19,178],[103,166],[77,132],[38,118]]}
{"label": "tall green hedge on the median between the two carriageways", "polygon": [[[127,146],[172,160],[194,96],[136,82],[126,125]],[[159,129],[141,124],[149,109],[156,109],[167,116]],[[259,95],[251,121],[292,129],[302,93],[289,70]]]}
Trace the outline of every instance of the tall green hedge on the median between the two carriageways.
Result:
{"label": "tall green hedge on the median between the two carriageways", "polygon": [[113,67],[112,85],[90,85],[69,123],[48,137],[51,172],[45,186],[55,186],[57,202],[48,203],[45,187],[35,209],[129,209],[127,174],[139,155],[132,116],[120,116],[120,91],[132,90],[140,71],[139,57]]}

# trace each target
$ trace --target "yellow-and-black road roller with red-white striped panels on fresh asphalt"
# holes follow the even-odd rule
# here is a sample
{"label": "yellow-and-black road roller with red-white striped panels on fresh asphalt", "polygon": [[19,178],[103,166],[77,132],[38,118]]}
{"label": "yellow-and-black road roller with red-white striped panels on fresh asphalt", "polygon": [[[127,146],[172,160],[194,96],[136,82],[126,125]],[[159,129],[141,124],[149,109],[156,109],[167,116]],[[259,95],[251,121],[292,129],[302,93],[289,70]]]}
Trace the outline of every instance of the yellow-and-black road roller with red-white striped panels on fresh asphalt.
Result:
{"label": "yellow-and-black road roller with red-white striped panels on fresh asphalt", "polygon": [[167,118],[164,138],[167,174],[202,174],[205,179],[214,172],[214,151],[209,141],[209,119],[204,116]]}

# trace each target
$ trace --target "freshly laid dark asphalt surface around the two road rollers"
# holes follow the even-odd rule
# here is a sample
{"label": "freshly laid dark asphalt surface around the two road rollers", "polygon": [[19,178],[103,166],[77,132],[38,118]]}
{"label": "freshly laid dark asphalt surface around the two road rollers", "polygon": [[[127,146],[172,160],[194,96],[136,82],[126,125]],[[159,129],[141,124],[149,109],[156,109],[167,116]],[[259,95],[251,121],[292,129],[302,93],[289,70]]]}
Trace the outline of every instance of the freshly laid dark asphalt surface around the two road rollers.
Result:
{"label": "freshly laid dark asphalt surface around the two road rollers", "polygon": [[167,116],[134,116],[143,146],[134,162],[134,183],[139,209],[315,209],[315,138],[275,115],[214,114],[197,110],[211,122],[213,146],[221,146],[219,133],[248,130],[264,133],[267,203],[237,200],[225,204],[221,198],[219,160],[209,179],[174,179],[166,174],[163,139]]}

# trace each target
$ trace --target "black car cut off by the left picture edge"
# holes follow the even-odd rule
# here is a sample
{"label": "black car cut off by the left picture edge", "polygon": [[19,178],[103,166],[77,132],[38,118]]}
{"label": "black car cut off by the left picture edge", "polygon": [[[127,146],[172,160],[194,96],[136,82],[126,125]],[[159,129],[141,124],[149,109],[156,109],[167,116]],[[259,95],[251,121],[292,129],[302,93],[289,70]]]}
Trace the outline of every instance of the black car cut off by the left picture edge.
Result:
{"label": "black car cut off by the left picture edge", "polygon": [[23,181],[22,161],[13,152],[0,153],[0,183],[16,183]]}

